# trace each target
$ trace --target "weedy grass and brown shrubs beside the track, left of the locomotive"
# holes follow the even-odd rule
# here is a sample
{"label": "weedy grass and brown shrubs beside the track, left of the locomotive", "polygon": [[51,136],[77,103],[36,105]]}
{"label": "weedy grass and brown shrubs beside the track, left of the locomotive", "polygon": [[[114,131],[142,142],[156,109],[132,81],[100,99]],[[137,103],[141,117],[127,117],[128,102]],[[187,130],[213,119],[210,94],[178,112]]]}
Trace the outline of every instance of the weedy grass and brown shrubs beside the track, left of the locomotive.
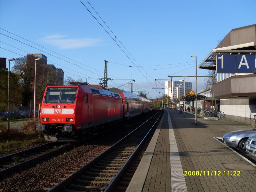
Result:
{"label": "weedy grass and brown shrubs beside the track, left of the locomotive", "polygon": [[10,132],[7,132],[7,123],[0,120],[0,154],[11,153],[34,143],[44,143],[44,138],[40,137],[40,132],[36,130],[36,124],[39,122],[28,119],[19,120],[18,123],[23,120],[22,129],[11,128]]}

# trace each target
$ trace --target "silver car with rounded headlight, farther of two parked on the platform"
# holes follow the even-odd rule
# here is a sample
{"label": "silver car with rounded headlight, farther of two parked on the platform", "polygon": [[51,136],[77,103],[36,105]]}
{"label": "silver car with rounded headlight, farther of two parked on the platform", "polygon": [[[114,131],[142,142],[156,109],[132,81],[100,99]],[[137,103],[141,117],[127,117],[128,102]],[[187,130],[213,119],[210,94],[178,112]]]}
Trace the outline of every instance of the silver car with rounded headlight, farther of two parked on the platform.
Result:
{"label": "silver car with rounded headlight, farther of two parked on the platform", "polygon": [[232,131],[223,135],[222,140],[227,146],[237,147],[242,153],[246,153],[245,142],[254,135],[256,135],[256,129]]}

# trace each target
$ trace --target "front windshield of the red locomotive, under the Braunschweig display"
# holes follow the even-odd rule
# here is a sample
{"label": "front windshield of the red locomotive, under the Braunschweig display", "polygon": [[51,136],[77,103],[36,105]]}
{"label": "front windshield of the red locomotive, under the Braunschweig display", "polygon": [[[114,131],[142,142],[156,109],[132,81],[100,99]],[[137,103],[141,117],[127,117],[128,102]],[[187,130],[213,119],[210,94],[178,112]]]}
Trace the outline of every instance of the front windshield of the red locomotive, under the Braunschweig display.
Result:
{"label": "front windshield of the red locomotive, under the Braunschweig display", "polygon": [[77,87],[48,87],[44,103],[75,103]]}

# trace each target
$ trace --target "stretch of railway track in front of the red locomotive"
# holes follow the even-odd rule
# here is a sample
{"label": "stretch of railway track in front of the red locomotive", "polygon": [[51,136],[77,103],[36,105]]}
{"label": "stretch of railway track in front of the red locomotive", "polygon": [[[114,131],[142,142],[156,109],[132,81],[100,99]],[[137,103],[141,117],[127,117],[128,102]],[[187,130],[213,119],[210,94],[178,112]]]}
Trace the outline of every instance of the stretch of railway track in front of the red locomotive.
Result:
{"label": "stretch of railway track in front of the red locomotive", "polygon": [[7,175],[14,171],[25,167],[28,164],[33,164],[52,154],[64,151],[69,148],[70,143],[50,142],[24,151],[3,156],[0,158],[0,175]]}

